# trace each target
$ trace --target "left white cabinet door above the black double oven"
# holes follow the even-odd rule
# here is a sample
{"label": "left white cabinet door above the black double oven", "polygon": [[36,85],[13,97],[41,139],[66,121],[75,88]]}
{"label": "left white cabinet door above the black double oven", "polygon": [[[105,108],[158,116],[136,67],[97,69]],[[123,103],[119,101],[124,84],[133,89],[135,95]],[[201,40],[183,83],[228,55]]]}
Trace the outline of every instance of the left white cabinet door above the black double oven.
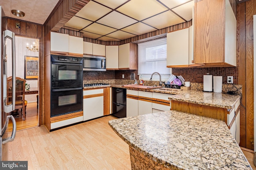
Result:
{"label": "left white cabinet door above the black double oven", "polygon": [[68,34],[51,32],[51,53],[68,54]]}

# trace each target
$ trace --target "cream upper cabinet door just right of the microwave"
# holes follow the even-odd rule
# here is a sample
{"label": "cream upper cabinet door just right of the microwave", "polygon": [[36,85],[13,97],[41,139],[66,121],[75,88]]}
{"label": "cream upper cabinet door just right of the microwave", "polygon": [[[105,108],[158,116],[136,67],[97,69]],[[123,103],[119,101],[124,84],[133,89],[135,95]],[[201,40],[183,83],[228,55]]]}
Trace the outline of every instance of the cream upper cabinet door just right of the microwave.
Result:
{"label": "cream upper cabinet door just right of the microwave", "polygon": [[106,69],[118,70],[118,45],[106,46]]}

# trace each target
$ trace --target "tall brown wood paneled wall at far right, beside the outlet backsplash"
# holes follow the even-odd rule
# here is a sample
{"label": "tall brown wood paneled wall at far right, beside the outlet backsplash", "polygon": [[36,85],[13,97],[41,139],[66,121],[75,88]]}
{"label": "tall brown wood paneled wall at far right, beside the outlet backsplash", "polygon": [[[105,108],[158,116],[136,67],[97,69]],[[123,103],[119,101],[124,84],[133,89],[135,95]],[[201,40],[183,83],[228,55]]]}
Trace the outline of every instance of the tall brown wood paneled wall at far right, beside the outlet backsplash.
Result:
{"label": "tall brown wood paneled wall at far right, beside the outlet backsplash", "polygon": [[249,0],[238,4],[238,58],[239,84],[243,86],[240,115],[240,146],[254,150],[254,78],[253,78],[253,15],[256,14],[256,1]]}

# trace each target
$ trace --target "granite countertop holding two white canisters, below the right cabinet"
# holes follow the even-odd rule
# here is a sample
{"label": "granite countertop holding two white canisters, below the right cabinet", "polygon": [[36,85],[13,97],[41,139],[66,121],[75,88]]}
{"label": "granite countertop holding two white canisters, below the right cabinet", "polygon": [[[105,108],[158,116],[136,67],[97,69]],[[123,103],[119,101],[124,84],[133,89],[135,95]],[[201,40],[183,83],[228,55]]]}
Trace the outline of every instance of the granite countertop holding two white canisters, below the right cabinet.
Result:
{"label": "granite countertop holding two white canisters, below the right cabinet", "polygon": [[170,100],[176,100],[180,102],[221,107],[225,109],[232,109],[236,102],[240,100],[239,95],[203,92],[201,90],[183,90],[168,98]]}

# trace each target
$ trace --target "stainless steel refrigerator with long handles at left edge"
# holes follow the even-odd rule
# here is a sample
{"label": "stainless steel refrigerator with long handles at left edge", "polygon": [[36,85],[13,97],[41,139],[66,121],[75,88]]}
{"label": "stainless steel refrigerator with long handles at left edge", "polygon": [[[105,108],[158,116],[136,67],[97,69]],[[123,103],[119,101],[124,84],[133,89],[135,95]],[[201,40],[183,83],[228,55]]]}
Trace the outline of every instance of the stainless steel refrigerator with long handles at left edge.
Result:
{"label": "stainless steel refrigerator with long handles at left edge", "polygon": [[[7,115],[15,109],[15,34],[7,30],[7,18],[4,15],[2,6],[0,6],[0,51],[1,51],[1,97],[0,97],[0,160],[8,160],[8,142],[14,140],[16,134],[16,121],[12,115]],[[7,89],[7,78],[12,76],[12,89]],[[6,98],[11,98],[7,105]],[[12,121],[12,133],[6,133],[9,120]]]}

